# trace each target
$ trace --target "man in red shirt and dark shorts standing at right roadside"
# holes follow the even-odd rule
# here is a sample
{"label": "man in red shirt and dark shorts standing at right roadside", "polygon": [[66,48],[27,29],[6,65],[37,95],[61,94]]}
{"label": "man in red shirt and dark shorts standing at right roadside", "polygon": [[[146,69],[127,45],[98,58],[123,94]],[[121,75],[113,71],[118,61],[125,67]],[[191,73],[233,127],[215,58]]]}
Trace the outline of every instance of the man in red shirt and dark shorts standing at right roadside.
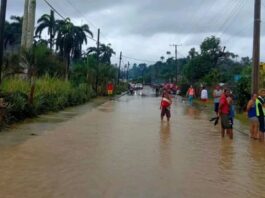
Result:
{"label": "man in red shirt and dark shorts standing at right roadside", "polygon": [[229,94],[230,91],[225,89],[224,93],[221,95],[218,114],[221,117],[222,137],[224,137],[226,132],[226,134],[229,135],[230,139],[233,139],[233,127],[232,123],[229,120],[230,105],[227,101]]}

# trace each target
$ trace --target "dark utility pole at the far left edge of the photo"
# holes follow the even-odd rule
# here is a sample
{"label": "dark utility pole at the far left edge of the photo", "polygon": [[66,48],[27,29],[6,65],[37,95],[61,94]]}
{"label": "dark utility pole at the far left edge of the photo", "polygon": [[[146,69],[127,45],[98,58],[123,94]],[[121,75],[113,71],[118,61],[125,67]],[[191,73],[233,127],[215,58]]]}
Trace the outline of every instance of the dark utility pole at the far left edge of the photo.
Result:
{"label": "dark utility pole at the far left edge of the photo", "polygon": [[6,21],[6,4],[7,0],[1,0],[0,10],[0,83],[2,82],[2,67],[4,55],[4,29]]}

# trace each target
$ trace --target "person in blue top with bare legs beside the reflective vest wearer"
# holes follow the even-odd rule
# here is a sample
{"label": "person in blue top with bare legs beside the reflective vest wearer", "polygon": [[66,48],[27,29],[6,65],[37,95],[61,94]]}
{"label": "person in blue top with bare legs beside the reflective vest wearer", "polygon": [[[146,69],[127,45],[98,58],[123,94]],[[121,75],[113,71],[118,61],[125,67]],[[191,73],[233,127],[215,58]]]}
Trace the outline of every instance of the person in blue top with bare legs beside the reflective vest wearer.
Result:
{"label": "person in blue top with bare legs beside the reflective vest wearer", "polygon": [[257,97],[258,97],[257,94],[253,94],[247,104],[247,113],[250,122],[250,137],[254,139],[259,139],[259,132],[258,132],[259,120],[256,113]]}

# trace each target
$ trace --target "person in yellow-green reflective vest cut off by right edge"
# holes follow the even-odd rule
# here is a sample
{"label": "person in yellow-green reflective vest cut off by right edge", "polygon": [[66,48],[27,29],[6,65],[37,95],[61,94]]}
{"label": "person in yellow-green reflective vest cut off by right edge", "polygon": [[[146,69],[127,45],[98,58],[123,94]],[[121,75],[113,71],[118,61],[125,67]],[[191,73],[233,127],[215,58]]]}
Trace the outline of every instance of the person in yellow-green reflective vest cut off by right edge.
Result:
{"label": "person in yellow-green reflective vest cut off by right edge", "polygon": [[265,124],[264,124],[264,97],[265,97],[265,89],[261,89],[259,91],[259,96],[256,99],[256,113],[259,120],[259,139],[260,141],[264,141],[264,132],[265,132]]}

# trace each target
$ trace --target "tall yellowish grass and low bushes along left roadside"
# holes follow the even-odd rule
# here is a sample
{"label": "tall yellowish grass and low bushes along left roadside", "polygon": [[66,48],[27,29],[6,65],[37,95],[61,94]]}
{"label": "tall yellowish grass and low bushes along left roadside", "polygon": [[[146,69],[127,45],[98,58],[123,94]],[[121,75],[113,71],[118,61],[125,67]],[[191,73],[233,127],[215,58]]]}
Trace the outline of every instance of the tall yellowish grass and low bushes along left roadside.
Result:
{"label": "tall yellowish grass and low bushes along left roadside", "polygon": [[36,80],[33,105],[29,104],[30,84],[26,80],[6,79],[2,94],[8,103],[6,122],[12,123],[47,111],[58,111],[68,106],[87,102],[95,96],[91,86],[73,86],[69,81],[44,76]]}

